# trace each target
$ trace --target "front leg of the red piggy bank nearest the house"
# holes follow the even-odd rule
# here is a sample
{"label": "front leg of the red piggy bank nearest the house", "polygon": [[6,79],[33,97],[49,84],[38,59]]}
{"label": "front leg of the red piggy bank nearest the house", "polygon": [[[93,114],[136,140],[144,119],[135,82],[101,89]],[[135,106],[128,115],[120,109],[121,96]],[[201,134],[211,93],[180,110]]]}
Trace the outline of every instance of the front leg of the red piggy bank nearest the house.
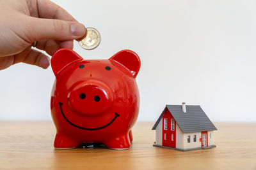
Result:
{"label": "front leg of the red piggy bank nearest the house", "polygon": [[116,138],[109,139],[104,143],[104,145],[113,150],[126,150],[131,146],[129,134],[124,134],[121,136],[116,136]]}

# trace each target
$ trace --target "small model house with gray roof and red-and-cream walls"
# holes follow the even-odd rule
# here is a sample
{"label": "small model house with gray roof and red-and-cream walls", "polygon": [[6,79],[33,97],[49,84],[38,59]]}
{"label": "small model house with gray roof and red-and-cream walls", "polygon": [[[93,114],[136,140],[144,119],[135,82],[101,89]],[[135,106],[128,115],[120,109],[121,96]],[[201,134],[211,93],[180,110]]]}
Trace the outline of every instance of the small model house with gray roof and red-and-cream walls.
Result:
{"label": "small model house with gray roof and red-and-cream walls", "polygon": [[154,146],[175,150],[212,148],[216,127],[200,106],[166,105],[156,124]]}

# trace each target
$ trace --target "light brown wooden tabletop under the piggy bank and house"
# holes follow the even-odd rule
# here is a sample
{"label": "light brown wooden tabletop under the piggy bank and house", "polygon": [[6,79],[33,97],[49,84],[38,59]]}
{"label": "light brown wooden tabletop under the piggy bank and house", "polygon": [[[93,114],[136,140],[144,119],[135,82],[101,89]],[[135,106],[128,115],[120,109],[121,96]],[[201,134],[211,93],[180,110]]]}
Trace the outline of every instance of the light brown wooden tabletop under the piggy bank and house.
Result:
{"label": "light brown wooden tabletop under the piggy bank and house", "polygon": [[152,146],[154,122],[138,122],[129,150],[55,150],[52,122],[0,122],[0,169],[256,169],[256,124],[215,123],[216,148]]}

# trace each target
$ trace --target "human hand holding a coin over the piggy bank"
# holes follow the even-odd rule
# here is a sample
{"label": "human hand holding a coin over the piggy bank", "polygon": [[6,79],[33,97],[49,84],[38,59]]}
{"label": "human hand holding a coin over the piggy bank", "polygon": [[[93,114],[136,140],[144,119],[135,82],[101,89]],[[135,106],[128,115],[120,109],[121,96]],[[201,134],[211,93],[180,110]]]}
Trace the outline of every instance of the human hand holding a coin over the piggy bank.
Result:
{"label": "human hand holding a coin over the piggy bank", "polygon": [[58,48],[73,48],[73,39],[86,28],[67,11],[48,0],[0,0],[0,70],[24,62],[46,69]]}

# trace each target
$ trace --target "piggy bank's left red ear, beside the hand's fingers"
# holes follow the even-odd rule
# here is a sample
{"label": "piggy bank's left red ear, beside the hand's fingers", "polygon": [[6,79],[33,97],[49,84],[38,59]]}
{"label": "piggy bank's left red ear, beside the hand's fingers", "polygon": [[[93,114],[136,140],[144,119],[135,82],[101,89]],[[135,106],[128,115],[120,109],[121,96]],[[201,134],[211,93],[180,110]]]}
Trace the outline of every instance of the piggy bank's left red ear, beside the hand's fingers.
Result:
{"label": "piggy bank's left red ear, beside the hand's fingers", "polygon": [[54,75],[56,76],[60,73],[61,69],[77,60],[83,60],[83,58],[69,48],[60,48],[52,55],[51,59],[51,66]]}

